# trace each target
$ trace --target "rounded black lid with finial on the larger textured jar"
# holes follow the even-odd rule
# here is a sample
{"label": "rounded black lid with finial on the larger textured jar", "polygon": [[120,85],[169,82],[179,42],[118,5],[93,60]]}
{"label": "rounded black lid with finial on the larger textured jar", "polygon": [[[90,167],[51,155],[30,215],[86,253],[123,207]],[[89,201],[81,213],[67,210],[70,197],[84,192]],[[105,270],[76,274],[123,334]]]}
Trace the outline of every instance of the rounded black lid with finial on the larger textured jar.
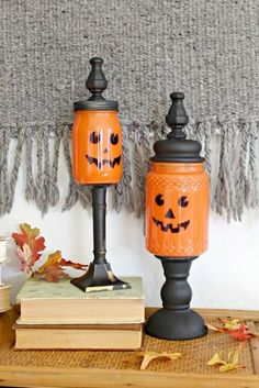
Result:
{"label": "rounded black lid with finial on the larger textured jar", "polygon": [[164,163],[202,163],[204,158],[200,155],[201,143],[194,140],[187,140],[182,129],[188,124],[189,118],[183,107],[184,95],[182,92],[171,93],[172,104],[166,117],[167,124],[171,132],[166,140],[154,144],[155,156],[153,162]]}

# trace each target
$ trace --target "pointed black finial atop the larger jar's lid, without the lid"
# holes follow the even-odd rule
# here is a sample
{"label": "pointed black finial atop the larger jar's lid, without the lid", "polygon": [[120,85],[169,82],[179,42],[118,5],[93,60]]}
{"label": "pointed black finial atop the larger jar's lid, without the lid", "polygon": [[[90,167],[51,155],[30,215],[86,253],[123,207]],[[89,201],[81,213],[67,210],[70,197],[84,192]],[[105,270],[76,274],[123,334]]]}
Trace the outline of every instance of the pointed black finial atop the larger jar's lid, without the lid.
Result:
{"label": "pointed black finial atop the larger jar's lid, without the lid", "polygon": [[183,107],[184,95],[180,91],[176,91],[170,95],[172,100],[171,108],[166,117],[167,124],[172,129],[168,134],[168,138],[183,140],[187,135],[182,132],[182,129],[188,124],[189,117]]}

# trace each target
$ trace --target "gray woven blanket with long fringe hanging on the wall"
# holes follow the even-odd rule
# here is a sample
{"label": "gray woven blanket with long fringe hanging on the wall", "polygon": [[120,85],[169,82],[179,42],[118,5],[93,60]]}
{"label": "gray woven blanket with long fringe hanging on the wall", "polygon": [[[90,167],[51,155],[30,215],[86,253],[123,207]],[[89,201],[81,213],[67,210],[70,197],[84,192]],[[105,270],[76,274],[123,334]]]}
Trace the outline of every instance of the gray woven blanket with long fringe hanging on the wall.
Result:
{"label": "gray woven blanket with long fringe hanging on the wall", "polygon": [[240,220],[245,206],[259,204],[258,30],[257,0],[1,0],[0,215],[12,209],[22,164],[26,199],[43,213],[59,202],[60,149],[70,175],[63,209],[90,203],[89,188],[71,177],[70,132],[88,60],[101,56],[124,134],[115,209],[142,215],[151,147],[180,90],[187,132],[203,144],[212,207]]}

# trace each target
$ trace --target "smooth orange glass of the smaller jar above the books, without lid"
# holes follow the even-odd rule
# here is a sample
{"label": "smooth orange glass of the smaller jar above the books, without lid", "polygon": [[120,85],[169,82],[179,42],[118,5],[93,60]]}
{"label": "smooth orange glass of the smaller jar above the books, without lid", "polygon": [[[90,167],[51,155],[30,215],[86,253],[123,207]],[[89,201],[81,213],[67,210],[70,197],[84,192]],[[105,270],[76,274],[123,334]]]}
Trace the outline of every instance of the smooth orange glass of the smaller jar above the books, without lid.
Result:
{"label": "smooth orange glass of the smaller jar above the books, without lid", "polygon": [[120,181],[122,129],[115,110],[78,110],[72,126],[72,173],[81,185]]}

